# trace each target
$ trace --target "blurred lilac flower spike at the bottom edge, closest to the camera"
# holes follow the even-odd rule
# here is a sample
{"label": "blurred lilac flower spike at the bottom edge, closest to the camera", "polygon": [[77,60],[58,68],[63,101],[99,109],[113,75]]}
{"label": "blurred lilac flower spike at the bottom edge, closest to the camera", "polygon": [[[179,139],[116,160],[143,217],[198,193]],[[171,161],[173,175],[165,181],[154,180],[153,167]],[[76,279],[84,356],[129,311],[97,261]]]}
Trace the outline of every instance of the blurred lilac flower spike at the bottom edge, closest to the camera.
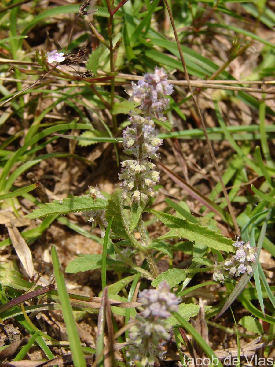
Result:
{"label": "blurred lilac flower spike at the bottom edge, closest to the camera", "polygon": [[155,366],[164,356],[163,346],[171,337],[171,325],[166,319],[178,310],[180,299],[170,292],[164,281],[158,289],[140,292],[138,301],[143,303],[144,310],[136,316],[137,323],[129,330],[126,356],[134,366],[135,360],[142,366]]}

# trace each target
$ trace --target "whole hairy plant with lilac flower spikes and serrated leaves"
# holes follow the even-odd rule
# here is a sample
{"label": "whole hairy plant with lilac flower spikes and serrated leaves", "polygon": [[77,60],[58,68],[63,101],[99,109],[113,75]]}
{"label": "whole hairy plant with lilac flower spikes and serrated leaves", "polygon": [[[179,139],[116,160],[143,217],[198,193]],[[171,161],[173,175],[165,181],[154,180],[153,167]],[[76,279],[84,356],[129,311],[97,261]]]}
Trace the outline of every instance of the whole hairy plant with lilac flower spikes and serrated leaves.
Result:
{"label": "whole hairy plant with lilac flower spikes and serrated leaves", "polygon": [[[51,56],[54,57],[48,55],[48,58]],[[88,261],[90,269],[101,266],[105,272],[109,267],[118,272],[125,270],[139,273],[143,279],[152,281],[152,286],[158,287],[157,290],[143,290],[140,293],[139,301],[144,309],[135,317],[136,324],[129,330],[126,342],[126,358],[129,363],[136,360],[142,366],[158,364],[158,359],[164,356],[164,346],[171,337],[172,329],[167,318],[171,312],[177,311],[179,299],[170,292],[170,288],[177,286],[180,292],[184,287],[180,283],[189,273],[201,271],[200,266],[206,266],[204,271],[214,271],[213,277],[217,281],[226,280],[227,275],[237,277],[245,272],[251,276],[252,264],[256,264],[257,255],[257,250],[250,247],[249,242],[244,244],[237,239],[234,243],[199,223],[148,206],[149,199],[156,195],[155,185],[160,179],[160,172],[152,162],[159,158],[158,150],[162,145],[162,139],[155,129],[155,121],[165,121],[164,110],[169,103],[168,96],[173,92],[167,77],[163,68],[156,67],[153,74],[147,73],[137,84],[132,84],[131,101],[137,101],[138,106],[129,111],[128,126],[122,134],[124,153],[132,157],[121,162],[119,179],[122,182],[109,201],[97,187],[89,187],[88,197],[63,199],[62,205],[55,201],[29,214],[29,218],[37,218],[45,214],[82,212],[88,222],[92,223],[92,228],[99,225],[104,237],[105,259],[102,255],[84,255],[72,261],[66,272],[83,271],[83,264]],[[171,205],[174,204],[172,202]],[[150,237],[143,222],[143,212],[146,211],[167,226],[169,231],[165,235],[155,239]],[[158,259],[163,255],[173,259],[172,245],[168,240],[181,237],[203,243],[206,248],[208,246],[215,251],[223,250],[234,255],[218,265],[204,258],[205,252],[202,252],[201,256],[193,259],[194,263],[199,264],[197,269],[172,268],[160,274]]]}

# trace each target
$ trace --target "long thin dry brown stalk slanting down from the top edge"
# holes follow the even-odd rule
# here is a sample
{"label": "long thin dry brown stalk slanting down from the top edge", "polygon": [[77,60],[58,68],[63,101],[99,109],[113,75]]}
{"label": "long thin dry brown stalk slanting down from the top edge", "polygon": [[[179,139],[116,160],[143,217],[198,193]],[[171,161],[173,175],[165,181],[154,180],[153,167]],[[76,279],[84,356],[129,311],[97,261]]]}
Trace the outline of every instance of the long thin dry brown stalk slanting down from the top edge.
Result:
{"label": "long thin dry brown stalk slanting down from the top edge", "polygon": [[173,19],[173,15],[172,15],[171,9],[169,7],[168,1],[167,0],[164,0],[164,2],[165,2],[166,8],[167,8],[168,13],[169,13],[169,17],[170,17],[171,25],[172,25],[172,28],[173,28],[173,32],[175,34],[177,48],[178,48],[179,53],[180,53],[180,59],[181,59],[182,65],[183,65],[184,74],[185,74],[185,77],[186,77],[186,80],[187,80],[188,88],[189,88],[190,93],[192,95],[192,99],[194,101],[195,109],[197,111],[197,114],[199,116],[199,120],[200,120],[201,125],[202,125],[202,130],[203,130],[203,133],[205,135],[205,139],[206,139],[207,145],[209,147],[210,155],[211,155],[211,157],[213,159],[213,163],[214,163],[214,166],[216,168],[216,171],[217,171],[217,174],[218,174],[218,177],[219,177],[219,181],[221,183],[221,187],[223,189],[225,200],[227,201],[228,209],[229,209],[230,215],[232,217],[232,221],[234,223],[235,232],[236,232],[237,235],[239,235],[240,234],[240,232],[239,232],[239,226],[238,226],[237,221],[236,221],[234,210],[232,208],[230,199],[228,197],[228,193],[227,193],[227,190],[226,190],[225,185],[224,185],[224,182],[223,182],[223,177],[221,175],[219,165],[217,163],[217,160],[216,160],[216,157],[215,157],[215,154],[214,154],[214,151],[213,151],[213,148],[212,148],[210,139],[209,139],[208,134],[207,134],[207,131],[206,131],[206,126],[205,126],[205,122],[204,122],[203,117],[202,117],[202,114],[201,114],[201,110],[199,109],[198,103],[195,100],[195,96],[194,96],[194,93],[192,91],[192,87],[191,87],[191,84],[190,84],[190,79],[189,79],[189,76],[188,76],[188,73],[187,73],[186,63],[185,63],[185,60],[184,60],[184,57],[183,57],[183,52],[182,52],[181,46],[180,46],[180,41],[179,41],[179,38],[177,37],[177,30],[176,30],[175,22],[174,22],[174,19]]}

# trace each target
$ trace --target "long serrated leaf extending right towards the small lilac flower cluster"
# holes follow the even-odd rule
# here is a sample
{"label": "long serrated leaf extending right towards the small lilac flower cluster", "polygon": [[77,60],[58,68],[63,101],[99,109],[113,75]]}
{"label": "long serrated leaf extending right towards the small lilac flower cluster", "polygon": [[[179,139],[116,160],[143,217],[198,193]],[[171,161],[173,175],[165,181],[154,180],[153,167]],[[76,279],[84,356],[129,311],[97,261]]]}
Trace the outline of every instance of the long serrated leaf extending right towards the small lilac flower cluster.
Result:
{"label": "long serrated leaf extending right towards the small lilac flower cluster", "polygon": [[176,218],[173,215],[159,212],[154,209],[148,209],[159,220],[161,220],[171,230],[165,235],[159,237],[161,240],[169,238],[186,238],[189,241],[199,241],[215,250],[234,252],[234,241],[224,237],[211,229],[201,226],[197,223],[191,223],[187,220]]}

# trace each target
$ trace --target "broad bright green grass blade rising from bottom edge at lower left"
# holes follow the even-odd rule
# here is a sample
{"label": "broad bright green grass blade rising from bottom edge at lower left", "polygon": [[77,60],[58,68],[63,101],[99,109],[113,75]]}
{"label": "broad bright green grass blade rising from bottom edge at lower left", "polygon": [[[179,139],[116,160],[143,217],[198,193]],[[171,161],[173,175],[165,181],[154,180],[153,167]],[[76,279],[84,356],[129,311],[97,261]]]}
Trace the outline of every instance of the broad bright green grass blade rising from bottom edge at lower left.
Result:
{"label": "broad bright green grass blade rising from bottom edge at lower left", "polygon": [[67,337],[70,343],[73,362],[75,366],[86,367],[86,361],[84,358],[83,350],[81,349],[81,342],[78,336],[76,322],[74,320],[73,310],[70,304],[70,298],[66,290],[65,279],[60,268],[55,246],[52,246],[52,264],[54,266],[56,286],[58,290],[58,296],[60,299],[64,322],[66,325]]}

